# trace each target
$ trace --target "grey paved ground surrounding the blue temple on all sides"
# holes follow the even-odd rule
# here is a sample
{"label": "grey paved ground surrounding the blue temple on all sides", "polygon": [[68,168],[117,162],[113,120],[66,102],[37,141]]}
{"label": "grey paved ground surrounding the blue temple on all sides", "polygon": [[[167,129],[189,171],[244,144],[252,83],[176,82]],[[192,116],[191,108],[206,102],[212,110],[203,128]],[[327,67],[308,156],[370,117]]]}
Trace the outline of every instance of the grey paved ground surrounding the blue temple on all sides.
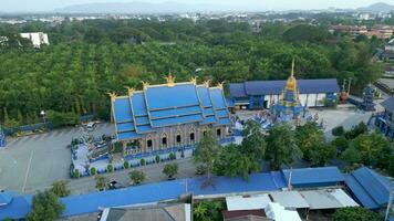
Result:
{"label": "grey paved ground surrounding the blue temple on all sides", "polygon": [[[237,112],[241,119],[249,119],[258,112]],[[345,128],[367,123],[371,113],[357,110],[352,105],[339,105],[338,108],[311,108],[311,115],[318,113],[319,123],[323,119],[323,127],[328,138],[331,129],[343,125]],[[70,180],[73,193],[85,193],[94,191],[95,181],[93,177],[70,179],[71,150],[68,147],[72,138],[79,138],[79,128],[56,129],[50,133],[10,138],[7,148],[0,152],[0,180],[2,189],[14,190],[20,193],[33,193],[37,190],[48,188],[55,180]],[[111,124],[97,125],[94,136],[113,134],[114,126]],[[179,164],[179,177],[194,176],[195,168],[191,158],[176,160]],[[139,167],[147,176],[147,182],[165,179],[162,173],[164,164]],[[128,185],[127,172],[106,173],[111,179]]]}

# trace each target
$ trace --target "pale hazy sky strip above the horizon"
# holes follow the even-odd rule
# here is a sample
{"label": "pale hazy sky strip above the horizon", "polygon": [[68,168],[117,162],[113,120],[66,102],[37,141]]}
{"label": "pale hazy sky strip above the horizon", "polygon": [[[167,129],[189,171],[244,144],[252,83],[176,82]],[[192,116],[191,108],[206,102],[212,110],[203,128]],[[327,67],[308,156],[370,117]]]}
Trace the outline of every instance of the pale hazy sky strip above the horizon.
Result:
{"label": "pale hazy sky strip above the horizon", "polygon": [[[72,4],[94,2],[131,2],[133,0],[0,0],[0,12],[38,12],[53,11]],[[242,6],[266,10],[292,10],[292,9],[353,9],[365,7],[375,2],[394,4],[394,0],[135,0],[138,2],[182,2],[189,4],[208,3],[218,6]]]}

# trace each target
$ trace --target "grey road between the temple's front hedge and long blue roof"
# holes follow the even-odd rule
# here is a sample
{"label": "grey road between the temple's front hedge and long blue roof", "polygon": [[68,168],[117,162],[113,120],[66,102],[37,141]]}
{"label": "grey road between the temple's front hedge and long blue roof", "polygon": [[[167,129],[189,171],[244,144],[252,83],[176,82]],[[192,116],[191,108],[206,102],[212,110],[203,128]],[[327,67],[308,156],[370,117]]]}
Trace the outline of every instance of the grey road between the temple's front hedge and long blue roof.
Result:
{"label": "grey road between the temple's front hedge and long blue roof", "polygon": [[[195,175],[195,166],[193,162],[193,158],[184,158],[177,159],[169,162],[162,162],[156,165],[148,165],[145,167],[135,168],[136,170],[141,170],[145,173],[146,180],[145,182],[158,182],[166,180],[166,176],[162,172],[163,168],[166,164],[178,164],[178,173],[176,178],[188,178]],[[133,168],[134,169],[134,168]],[[110,181],[116,180],[123,186],[129,186],[131,180],[128,178],[128,172],[133,169],[115,171],[112,173],[104,173],[104,177],[107,177]],[[71,194],[83,194],[92,191],[96,191],[95,189],[95,180],[94,177],[84,177],[80,179],[71,179],[69,180],[69,186],[71,190]]]}

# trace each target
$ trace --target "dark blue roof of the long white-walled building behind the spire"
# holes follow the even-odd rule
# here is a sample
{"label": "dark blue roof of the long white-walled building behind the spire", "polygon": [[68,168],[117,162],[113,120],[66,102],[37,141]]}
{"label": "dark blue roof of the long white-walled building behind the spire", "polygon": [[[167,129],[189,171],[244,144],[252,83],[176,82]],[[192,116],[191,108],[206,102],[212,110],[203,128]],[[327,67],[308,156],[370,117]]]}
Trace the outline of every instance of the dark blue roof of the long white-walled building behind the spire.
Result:
{"label": "dark blue roof of the long white-walled building behind the spire", "polygon": [[[338,93],[340,87],[335,78],[298,80],[301,94]],[[247,97],[249,95],[277,95],[281,94],[286,81],[251,81],[230,84],[231,97]]]}

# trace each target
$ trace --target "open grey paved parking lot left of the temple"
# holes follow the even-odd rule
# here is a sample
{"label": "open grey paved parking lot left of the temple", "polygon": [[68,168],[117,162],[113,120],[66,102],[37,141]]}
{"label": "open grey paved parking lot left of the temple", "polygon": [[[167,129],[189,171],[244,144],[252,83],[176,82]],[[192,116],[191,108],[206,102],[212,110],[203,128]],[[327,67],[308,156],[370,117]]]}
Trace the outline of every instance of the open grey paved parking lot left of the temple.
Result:
{"label": "open grey paved parking lot left of the temple", "polygon": [[[113,125],[98,124],[93,135],[113,133]],[[79,137],[79,128],[65,128],[8,139],[0,150],[0,188],[33,193],[55,180],[69,179],[71,152],[66,146]]]}

